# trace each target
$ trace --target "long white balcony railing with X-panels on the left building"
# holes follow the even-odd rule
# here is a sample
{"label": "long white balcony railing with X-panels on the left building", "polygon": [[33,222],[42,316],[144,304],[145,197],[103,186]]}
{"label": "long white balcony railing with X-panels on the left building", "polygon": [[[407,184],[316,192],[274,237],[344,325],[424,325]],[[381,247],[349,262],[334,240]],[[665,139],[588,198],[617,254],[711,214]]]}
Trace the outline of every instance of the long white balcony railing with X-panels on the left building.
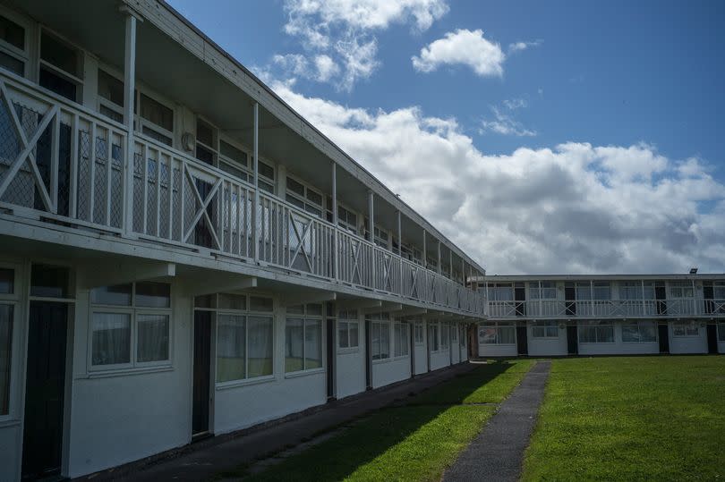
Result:
{"label": "long white balcony railing with X-panels on the left building", "polygon": [[0,208],[16,218],[209,253],[482,316],[484,292],[0,73]]}

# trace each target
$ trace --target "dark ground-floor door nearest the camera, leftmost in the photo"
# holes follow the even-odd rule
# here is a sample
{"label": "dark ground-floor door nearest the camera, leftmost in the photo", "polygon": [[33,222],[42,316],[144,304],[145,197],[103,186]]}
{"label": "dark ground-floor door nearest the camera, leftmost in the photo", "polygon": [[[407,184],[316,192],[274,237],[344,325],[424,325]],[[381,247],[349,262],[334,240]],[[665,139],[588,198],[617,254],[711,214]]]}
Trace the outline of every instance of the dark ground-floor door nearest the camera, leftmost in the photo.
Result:
{"label": "dark ground-floor door nearest the camera, leftmost in the photo", "polygon": [[68,305],[30,302],[23,478],[49,476],[61,469],[67,331]]}

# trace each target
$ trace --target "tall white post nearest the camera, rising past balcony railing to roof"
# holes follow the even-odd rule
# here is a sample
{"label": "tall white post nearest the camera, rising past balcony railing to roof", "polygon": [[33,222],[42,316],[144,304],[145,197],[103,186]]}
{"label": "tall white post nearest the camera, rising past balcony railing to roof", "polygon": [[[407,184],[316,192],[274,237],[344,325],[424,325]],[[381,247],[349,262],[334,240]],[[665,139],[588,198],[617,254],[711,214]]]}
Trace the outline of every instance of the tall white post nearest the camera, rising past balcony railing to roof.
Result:
{"label": "tall white post nearest the camera, rising past balcony railing to roof", "polygon": [[[124,125],[126,127],[126,146],[124,149],[123,231],[126,236],[129,236],[133,232],[133,158],[135,156],[135,143],[133,141],[133,96],[136,92],[136,21],[143,20],[128,5],[123,5],[120,10],[126,14],[124,38]],[[108,142],[111,142],[110,131],[108,132]],[[110,163],[111,160],[107,159],[107,162]],[[93,189],[92,180],[91,189]]]}

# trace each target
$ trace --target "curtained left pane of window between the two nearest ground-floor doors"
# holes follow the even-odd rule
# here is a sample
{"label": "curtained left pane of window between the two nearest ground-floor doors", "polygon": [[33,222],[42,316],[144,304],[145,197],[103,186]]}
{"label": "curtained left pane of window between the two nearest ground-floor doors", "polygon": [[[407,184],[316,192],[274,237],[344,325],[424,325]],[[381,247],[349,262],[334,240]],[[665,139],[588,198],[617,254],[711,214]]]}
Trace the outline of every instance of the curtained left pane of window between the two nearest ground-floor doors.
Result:
{"label": "curtained left pane of window between the two nearest ground-floor doors", "polygon": [[131,314],[93,313],[93,365],[131,362]]}

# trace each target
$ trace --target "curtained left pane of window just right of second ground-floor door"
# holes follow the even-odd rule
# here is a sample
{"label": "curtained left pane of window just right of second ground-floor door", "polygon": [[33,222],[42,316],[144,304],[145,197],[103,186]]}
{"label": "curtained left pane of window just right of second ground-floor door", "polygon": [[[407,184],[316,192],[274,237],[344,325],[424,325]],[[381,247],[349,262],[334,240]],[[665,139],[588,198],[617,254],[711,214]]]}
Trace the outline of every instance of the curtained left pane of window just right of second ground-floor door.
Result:
{"label": "curtained left pane of window just right of second ground-floor door", "polygon": [[246,327],[243,316],[219,315],[217,319],[217,381],[246,378]]}

